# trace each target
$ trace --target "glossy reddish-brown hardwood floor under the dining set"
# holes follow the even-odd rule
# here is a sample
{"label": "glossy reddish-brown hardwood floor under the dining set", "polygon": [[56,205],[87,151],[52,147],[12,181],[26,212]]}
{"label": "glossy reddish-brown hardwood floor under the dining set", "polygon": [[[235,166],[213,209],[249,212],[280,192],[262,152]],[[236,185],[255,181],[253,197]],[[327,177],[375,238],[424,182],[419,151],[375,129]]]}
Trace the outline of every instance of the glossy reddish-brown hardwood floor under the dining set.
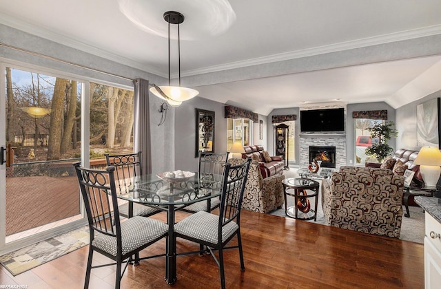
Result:
{"label": "glossy reddish-brown hardwood floor under the dining set", "polygon": [[[186,213],[178,212],[176,220]],[[165,220],[162,213],[155,217]],[[227,288],[424,288],[422,244],[378,237],[310,222],[243,210],[241,231],[245,272],[238,250],[227,250]],[[235,242],[233,240],[232,242]],[[196,244],[178,239],[178,252]],[[165,240],[144,251],[163,253]],[[28,288],[83,288],[88,246],[17,277],[0,266],[0,284]],[[94,264],[105,257],[94,255]],[[218,288],[218,267],[210,255],[179,256],[178,281],[164,281],[165,259],[141,261],[127,267],[122,288]],[[90,288],[113,288],[114,268],[92,270]]]}

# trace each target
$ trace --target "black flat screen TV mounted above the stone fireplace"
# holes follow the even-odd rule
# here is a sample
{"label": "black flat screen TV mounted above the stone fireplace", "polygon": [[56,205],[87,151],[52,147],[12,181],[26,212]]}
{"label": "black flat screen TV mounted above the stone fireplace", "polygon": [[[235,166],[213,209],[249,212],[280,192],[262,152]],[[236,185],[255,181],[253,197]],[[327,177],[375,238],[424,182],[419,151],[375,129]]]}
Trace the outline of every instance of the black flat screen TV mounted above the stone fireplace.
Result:
{"label": "black flat screen TV mounted above the stone fireplace", "polygon": [[300,131],[345,131],[345,109],[300,110]]}

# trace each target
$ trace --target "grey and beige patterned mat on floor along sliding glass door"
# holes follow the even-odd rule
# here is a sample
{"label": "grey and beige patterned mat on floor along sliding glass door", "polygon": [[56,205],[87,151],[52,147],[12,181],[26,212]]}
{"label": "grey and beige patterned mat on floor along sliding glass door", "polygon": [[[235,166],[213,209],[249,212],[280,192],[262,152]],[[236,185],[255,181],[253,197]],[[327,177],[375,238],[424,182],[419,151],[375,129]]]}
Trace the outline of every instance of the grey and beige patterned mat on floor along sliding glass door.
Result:
{"label": "grey and beige patterned mat on floor along sliding glass door", "polygon": [[0,256],[0,263],[17,276],[89,244],[89,227],[83,226]]}

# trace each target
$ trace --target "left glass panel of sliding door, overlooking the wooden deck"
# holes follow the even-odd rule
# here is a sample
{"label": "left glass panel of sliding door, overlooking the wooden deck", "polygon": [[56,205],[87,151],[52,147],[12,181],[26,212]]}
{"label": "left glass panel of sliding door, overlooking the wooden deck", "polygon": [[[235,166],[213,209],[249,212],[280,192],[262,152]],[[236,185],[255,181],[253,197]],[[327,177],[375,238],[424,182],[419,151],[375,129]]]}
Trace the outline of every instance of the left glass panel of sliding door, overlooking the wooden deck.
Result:
{"label": "left glass panel of sliding door, overlooking the wooden deck", "polygon": [[8,244],[82,218],[72,162],[81,155],[83,83],[31,69],[3,68],[2,233]]}

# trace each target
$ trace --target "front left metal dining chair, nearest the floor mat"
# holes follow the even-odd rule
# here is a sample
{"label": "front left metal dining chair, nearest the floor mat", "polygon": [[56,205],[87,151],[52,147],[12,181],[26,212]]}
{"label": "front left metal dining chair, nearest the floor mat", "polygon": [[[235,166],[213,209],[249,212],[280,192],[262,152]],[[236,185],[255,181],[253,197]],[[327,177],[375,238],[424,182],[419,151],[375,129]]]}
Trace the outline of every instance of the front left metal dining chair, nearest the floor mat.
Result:
{"label": "front left metal dining chair, nearest the floor mat", "polygon": [[[107,167],[105,170],[85,169],[80,167],[80,162],[74,163],[74,167],[81,195],[83,195],[90,230],[84,288],[89,287],[90,271],[93,268],[115,264],[115,288],[120,288],[121,278],[132,256],[135,255],[137,258],[141,250],[165,237],[168,226],[159,220],[140,216],[120,222],[114,177],[115,167]],[[94,252],[112,259],[114,263],[92,266]],[[125,267],[122,268],[124,263]]]}

